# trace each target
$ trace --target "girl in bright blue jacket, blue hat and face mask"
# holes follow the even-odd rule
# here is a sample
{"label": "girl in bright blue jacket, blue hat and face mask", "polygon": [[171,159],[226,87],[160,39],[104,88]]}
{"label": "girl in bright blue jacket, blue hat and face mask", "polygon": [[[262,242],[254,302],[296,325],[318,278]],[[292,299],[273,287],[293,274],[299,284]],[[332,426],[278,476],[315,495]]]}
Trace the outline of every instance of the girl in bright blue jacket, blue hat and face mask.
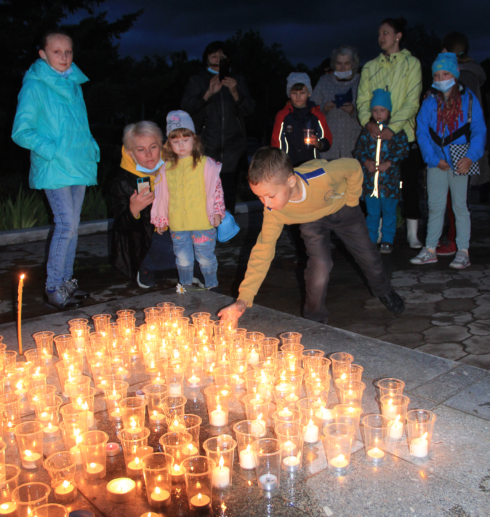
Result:
{"label": "girl in bright blue jacket, blue hat and face mask", "polygon": [[[456,217],[457,246],[449,267],[462,269],[470,265],[470,215],[466,202],[468,172],[472,163],[483,156],[486,127],[476,95],[457,82],[460,70],[456,54],[439,54],[432,65],[432,73],[434,82],[417,116],[417,140],[427,163],[427,237],[425,247],[410,262],[437,262],[436,247],[442,233],[449,188]],[[466,143],[469,143],[466,153],[453,163],[450,145]]]}

